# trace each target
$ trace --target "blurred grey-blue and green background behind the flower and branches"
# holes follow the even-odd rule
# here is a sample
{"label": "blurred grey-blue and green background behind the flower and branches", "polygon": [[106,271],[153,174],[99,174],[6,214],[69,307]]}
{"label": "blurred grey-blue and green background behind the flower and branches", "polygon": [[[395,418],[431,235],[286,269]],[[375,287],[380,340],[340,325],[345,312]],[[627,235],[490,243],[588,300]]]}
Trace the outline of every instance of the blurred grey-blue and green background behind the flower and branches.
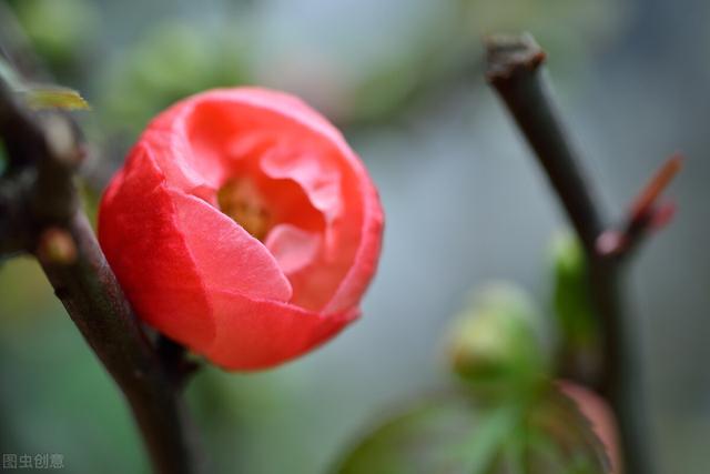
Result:
{"label": "blurred grey-blue and green background behind the flower and branches", "polygon": [[[486,281],[517,282],[549,307],[549,242],[565,221],[483,79],[480,38],[519,30],[549,52],[564,113],[616,215],[665,157],[688,157],[669,191],[677,219],[631,272],[646,364],[636,390],[649,403],[659,472],[710,472],[706,0],[0,7],[0,30],[17,19],[55,81],[93,105],[78,114],[99,157],[90,203],[156,111],[230,84],[302,95],[343,128],[381,189],[385,249],[364,317],[284,367],[207,367],[190,386],[213,472],[324,472],[388,407],[449,383],[442,335]],[[148,471],[121,395],[29,259],[0,268],[0,446],[62,453],[71,473]]]}

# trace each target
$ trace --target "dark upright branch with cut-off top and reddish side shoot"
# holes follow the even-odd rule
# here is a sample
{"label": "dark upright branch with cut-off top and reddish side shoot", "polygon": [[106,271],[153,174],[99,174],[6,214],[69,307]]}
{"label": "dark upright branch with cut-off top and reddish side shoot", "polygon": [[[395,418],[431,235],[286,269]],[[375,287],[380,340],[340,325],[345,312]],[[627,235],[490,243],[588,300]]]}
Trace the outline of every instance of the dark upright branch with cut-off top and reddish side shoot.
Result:
{"label": "dark upright branch with cut-off top and reddish side shoot", "polygon": [[[579,154],[571,147],[548,84],[541,74],[545,52],[530,36],[495,37],[487,41],[487,79],[506,103],[530,147],[537,154],[552,188],[582,242],[589,262],[589,291],[600,317],[604,357],[592,385],[610,403],[619,422],[621,451],[627,474],[650,473],[653,453],[647,443],[647,417],[642,397],[632,383],[640,373],[636,342],[627,334],[628,317],[622,300],[625,256],[651,226],[649,210],[658,193],[679,167],[672,160],[651,181],[627,219],[627,244],[616,252],[605,251],[606,223],[584,173]],[[656,214],[660,215],[660,214]]]}

